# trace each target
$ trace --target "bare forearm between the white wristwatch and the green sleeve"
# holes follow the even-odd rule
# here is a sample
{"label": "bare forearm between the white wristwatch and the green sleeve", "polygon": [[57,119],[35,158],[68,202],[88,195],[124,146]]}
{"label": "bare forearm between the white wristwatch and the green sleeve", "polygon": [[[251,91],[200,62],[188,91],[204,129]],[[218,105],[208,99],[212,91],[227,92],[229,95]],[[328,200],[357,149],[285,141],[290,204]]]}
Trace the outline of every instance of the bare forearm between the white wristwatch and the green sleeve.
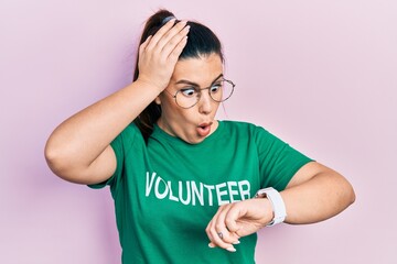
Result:
{"label": "bare forearm between the white wristwatch and the green sleeve", "polygon": [[292,224],[325,220],[355,200],[352,185],[341,174],[316,162],[302,166],[280,194],[287,209],[285,222]]}

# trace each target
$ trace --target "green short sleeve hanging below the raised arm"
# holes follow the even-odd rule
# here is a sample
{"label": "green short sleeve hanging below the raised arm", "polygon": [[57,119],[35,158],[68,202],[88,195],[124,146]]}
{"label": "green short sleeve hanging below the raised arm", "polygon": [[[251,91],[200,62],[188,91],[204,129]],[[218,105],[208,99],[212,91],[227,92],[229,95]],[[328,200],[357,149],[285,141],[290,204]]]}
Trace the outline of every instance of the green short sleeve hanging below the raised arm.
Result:
{"label": "green short sleeve hanging below the raised arm", "polygon": [[117,161],[114,175],[111,175],[111,177],[104,183],[88,185],[88,187],[93,189],[100,189],[108,185],[110,188],[116,188],[122,176],[126,154],[131,150],[137,133],[140,133],[139,129],[133,123],[131,123],[118,136],[116,136],[116,139],[110,143]]}

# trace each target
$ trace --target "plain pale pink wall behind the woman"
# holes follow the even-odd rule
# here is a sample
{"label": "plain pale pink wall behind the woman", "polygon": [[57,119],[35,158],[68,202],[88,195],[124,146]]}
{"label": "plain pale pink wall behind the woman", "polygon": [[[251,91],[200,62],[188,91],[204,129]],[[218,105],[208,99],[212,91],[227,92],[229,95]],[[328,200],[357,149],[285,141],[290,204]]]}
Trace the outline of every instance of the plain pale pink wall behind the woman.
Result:
{"label": "plain pale pink wall behind the woman", "polygon": [[397,263],[395,0],[2,0],[0,263],[119,263],[109,190],[53,176],[43,147],[61,121],[129,84],[159,7],[223,41],[237,90],[219,118],[267,128],[355,187],[329,221],[261,230],[257,263]]}

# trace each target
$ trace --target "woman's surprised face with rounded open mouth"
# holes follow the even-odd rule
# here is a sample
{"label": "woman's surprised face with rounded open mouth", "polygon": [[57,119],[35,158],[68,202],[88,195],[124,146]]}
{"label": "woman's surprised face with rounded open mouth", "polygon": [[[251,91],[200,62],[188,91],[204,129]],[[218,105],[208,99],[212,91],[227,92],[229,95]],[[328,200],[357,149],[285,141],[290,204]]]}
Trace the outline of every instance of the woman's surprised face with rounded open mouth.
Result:
{"label": "woman's surprised face with rounded open mouth", "polygon": [[159,127],[187,143],[202,142],[218,125],[214,118],[219,102],[214,101],[206,89],[194,107],[184,109],[175,103],[173,96],[190,87],[207,88],[222,77],[223,64],[217,54],[179,61],[165,91],[155,99],[162,109]]}

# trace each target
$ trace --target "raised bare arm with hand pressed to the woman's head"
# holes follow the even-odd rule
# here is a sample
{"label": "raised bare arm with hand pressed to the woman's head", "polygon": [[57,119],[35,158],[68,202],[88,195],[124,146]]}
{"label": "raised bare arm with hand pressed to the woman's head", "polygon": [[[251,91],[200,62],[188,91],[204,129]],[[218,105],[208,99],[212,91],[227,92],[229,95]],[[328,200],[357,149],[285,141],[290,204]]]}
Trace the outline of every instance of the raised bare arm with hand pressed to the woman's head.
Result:
{"label": "raised bare arm with hand pressed to the woman's head", "polygon": [[116,170],[110,142],[165,89],[186,44],[185,22],[165,23],[139,48],[139,77],[129,86],[61,123],[45,145],[50,168],[61,178],[97,184]]}

